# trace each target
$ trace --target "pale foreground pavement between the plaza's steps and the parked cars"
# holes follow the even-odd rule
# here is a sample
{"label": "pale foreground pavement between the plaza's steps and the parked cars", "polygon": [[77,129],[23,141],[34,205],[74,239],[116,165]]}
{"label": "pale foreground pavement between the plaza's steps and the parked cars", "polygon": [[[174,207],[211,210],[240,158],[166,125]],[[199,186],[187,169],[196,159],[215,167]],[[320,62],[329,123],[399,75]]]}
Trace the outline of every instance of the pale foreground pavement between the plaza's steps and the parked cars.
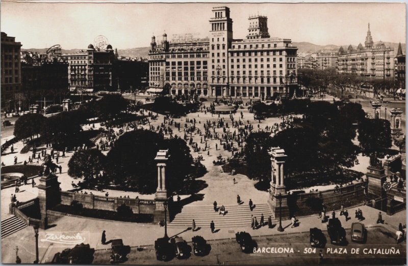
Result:
{"label": "pale foreground pavement between the plaza's steps and the parked cars", "polygon": [[[211,206],[209,206],[211,208]],[[368,206],[360,206],[363,211],[364,217],[366,219],[362,221],[365,226],[375,226],[378,210],[370,208]],[[345,221],[344,216],[340,216],[340,221],[342,222],[343,227],[350,228],[351,223],[356,222],[354,218],[354,211],[356,208],[348,209],[348,212],[352,215],[351,220]],[[391,231],[396,231],[398,224],[405,223],[406,211],[402,211],[393,216],[388,216],[386,214],[382,215],[382,218],[385,220],[384,226],[390,229]],[[336,217],[339,217],[339,213],[336,213]],[[227,218],[227,215],[225,216]],[[201,228],[196,232],[184,231],[180,228],[169,228],[168,235],[171,237],[175,234],[180,234],[181,237],[187,241],[191,241],[191,238],[194,235],[201,235],[207,240],[213,239],[233,239],[235,238],[235,233],[238,231],[247,231],[250,232],[253,237],[258,235],[278,235],[278,234],[287,234],[287,233],[297,233],[297,232],[308,232],[311,227],[318,227],[320,229],[326,229],[326,223],[322,224],[320,220],[315,216],[309,216],[300,218],[300,225],[295,228],[290,228],[290,221],[283,221],[282,225],[285,228],[284,232],[278,232],[276,226],[272,229],[269,229],[267,226],[264,226],[258,230],[253,230],[250,228],[250,220],[248,221],[247,227],[231,227],[231,228],[217,228],[220,229],[216,233],[211,233],[209,225],[205,228]],[[163,237],[164,228],[159,225],[153,224],[138,224],[138,223],[125,223],[125,222],[115,222],[115,221],[106,221],[106,220],[94,220],[86,218],[77,218],[77,217],[63,217],[57,223],[55,227],[49,228],[47,233],[56,233],[56,232],[76,232],[82,231],[84,236],[87,236],[89,232],[89,240],[86,243],[89,243],[91,248],[95,249],[110,249],[109,245],[101,245],[100,237],[101,232],[106,230],[107,240],[111,239],[123,239],[125,245],[130,246],[140,246],[140,245],[153,245],[154,241],[157,238]],[[40,229],[40,241],[42,238],[43,230]],[[370,237],[370,235],[368,236]],[[393,236],[394,237],[394,236]],[[16,240],[19,240],[16,242]],[[42,242],[41,242],[42,243]],[[35,257],[35,245],[34,245],[34,230],[31,227],[26,227],[10,237],[6,237],[2,240],[2,262],[3,263],[14,263],[15,262],[15,251],[14,248],[17,246],[19,249],[19,256],[22,260],[22,263],[31,263]],[[59,252],[65,248],[70,248],[73,245],[66,247],[55,247],[55,245],[48,245],[42,243],[43,247],[39,249],[41,262],[49,261],[52,259],[56,252]]]}

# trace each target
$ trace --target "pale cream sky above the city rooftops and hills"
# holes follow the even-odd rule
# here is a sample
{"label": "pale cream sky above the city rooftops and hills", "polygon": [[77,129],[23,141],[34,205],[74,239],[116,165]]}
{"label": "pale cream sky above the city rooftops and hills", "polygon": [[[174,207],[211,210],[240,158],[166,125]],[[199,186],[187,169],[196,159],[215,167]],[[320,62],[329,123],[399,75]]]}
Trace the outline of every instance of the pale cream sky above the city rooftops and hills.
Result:
{"label": "pale cream sky above the city rooftops and hills", "polygon": [[[86,49],[98,35],[118,49],[146,47],[172,34],[209,36],[212,7],[227,6],[234,39],[243,39],[249,15],[268,17],[271,37],[317,45],[364,45],[370,22],[373,41],[405,43],[405,4],[112,4],[112,3],[2,3],[1,31],[16,37],[22,48]],[[158,38],[160,36],[160,38]]]}

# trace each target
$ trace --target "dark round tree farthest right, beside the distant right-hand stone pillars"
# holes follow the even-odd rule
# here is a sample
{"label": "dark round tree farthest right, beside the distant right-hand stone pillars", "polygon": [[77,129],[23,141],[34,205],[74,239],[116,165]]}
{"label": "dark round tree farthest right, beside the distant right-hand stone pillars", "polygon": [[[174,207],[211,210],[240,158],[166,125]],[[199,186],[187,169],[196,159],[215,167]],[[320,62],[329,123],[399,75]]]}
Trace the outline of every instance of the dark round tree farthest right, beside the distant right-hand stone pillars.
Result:
{"label": "dark round tree farthest right, beside the distant right-hand stone pillars", "polygon": [[392,145],[390,122],[385,119],[364,119],[359,124],[358,139],[366,154],[388,149]]}

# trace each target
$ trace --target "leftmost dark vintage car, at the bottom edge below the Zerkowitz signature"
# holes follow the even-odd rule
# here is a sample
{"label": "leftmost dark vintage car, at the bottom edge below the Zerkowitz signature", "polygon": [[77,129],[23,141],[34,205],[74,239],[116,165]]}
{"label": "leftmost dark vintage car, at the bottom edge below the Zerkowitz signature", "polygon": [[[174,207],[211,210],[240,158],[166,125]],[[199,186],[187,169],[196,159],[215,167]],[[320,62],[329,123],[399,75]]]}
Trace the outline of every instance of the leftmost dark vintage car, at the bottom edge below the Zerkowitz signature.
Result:
{"label": "leftmost dark vintage car, at the bottom edge below the Zerkowitz signature", "polygon": [[94,250],[89,244],[78,244],[72,249],[64,249],[54,255],[52,263],[56,264],[90,264]]}

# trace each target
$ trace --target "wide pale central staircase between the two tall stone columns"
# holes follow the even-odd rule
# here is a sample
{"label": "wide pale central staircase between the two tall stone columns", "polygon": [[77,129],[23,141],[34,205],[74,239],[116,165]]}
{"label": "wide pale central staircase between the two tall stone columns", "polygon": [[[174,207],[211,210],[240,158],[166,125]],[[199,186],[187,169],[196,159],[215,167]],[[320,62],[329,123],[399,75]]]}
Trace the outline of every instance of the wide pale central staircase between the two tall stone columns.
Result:
{"label": "wide pale central staircase between the two tall stone columns", "polygon": [[[256,204],[256,207],[249,210],[247,204],[243,205],[224,205],[227,213],[225,216],[214,211],[212,205],[186,205],[181,213],[177,214],[168,227],[187,228],[191,227],[194,219],[196,227],[209,228],[211,221],[214,221],[215,228],[219,227],[246,227],[251,226],[251,215],[257,217],[258,223],[261,222],[261,214],[264,215],[264,223],[268,222],[268,217],[272,216],[272,223],[276,219],[271,213],[268,204]],[[221,207],[220,205],[218,207]]]}

